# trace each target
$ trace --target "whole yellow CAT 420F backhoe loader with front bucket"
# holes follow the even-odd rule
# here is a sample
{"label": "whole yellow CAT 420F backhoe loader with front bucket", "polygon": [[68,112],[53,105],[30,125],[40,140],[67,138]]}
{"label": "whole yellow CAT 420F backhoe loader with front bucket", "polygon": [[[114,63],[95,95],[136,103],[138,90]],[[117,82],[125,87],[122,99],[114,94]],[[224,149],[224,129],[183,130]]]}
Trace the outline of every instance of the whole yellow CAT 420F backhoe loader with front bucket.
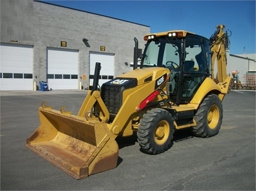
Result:
{"label": "whole yellow CAT 420F backhoe loader with front bucket", "polygon": [[145,35],[139,68],[135,38],[133,71],[99,88],[101,66],[96,63],[93,87],[78,115],[43,102],[40,126],[26,147],[81,179],[117,166],[117,137],[136,132],[144,153],[159,154],[171,147],[174,130],[190,128],[197,137],[218,134],[222,100],[232,86],[224,28],[218,25],[210,39],[187,31]]}

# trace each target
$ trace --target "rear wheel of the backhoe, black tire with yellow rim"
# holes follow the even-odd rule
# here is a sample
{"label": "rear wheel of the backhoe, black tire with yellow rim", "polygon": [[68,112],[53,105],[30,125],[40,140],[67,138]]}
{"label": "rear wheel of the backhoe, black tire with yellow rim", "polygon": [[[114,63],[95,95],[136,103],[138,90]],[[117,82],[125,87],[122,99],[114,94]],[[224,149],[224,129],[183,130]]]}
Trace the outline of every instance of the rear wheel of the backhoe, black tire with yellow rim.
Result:
{"label": "rear wheel of the backhoe, black tire with yellow rim", "polygon": [[212,137],[219,133],[223,118],[221,100],[217,95],[209,95],[201,103],[195,114],[197,125],[192,127],[192,134],[196,137]]}

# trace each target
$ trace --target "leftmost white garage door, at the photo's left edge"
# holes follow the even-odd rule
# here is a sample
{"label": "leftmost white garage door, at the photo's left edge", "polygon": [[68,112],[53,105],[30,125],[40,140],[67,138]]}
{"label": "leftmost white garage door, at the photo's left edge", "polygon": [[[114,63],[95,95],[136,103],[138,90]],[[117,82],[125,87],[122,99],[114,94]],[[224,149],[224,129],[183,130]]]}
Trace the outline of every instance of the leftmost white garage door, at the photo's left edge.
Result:
{"label": "leftmost white garage door, at the photo's left edge", "polygon": [[0,45],[0,90],[33,90],[33,47]]}

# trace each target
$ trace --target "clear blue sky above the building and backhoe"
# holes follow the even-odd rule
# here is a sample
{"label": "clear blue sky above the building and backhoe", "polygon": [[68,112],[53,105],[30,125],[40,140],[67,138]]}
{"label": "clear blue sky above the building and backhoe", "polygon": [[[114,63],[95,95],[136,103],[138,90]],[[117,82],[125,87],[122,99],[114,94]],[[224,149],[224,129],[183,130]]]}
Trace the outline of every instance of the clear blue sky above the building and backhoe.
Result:
{"label": "clear blue sky above the building and backhoe", "polygon": [[184,29],[209,38],[224,24],[232,31],[231,54],[256,53],[255,1],[45,2],[147,25],[151,32]]}

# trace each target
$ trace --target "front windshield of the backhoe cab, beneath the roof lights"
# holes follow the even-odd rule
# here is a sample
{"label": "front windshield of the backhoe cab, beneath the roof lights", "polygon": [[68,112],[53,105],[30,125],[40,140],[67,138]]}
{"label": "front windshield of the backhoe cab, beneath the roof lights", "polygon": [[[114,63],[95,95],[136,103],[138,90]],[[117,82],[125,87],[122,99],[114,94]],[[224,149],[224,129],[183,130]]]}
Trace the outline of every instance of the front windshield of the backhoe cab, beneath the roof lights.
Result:
{"label": "front windshield of the backhoe cab, beneath the roof lights", "polygon": [[178,38],[156,38],[148,41],[142,55],[142,68],[165,67],[177,70],[180,65],[181,40]]}

